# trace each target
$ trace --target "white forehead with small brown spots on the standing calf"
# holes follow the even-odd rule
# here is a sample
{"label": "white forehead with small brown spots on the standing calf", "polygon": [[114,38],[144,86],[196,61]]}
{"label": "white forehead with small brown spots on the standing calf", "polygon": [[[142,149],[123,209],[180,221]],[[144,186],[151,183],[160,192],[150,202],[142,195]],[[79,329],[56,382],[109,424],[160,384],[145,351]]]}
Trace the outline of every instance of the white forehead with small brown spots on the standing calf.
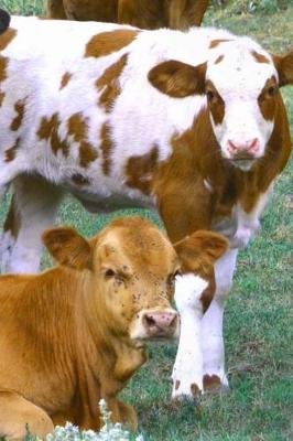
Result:
{"label": "white forehead with small brown spots on the standing calf", "polygon": [[271,55],[248,37],[221,42],[213,52],[207,79],[227,97],[258,97],[269,78],[278,78]]}

